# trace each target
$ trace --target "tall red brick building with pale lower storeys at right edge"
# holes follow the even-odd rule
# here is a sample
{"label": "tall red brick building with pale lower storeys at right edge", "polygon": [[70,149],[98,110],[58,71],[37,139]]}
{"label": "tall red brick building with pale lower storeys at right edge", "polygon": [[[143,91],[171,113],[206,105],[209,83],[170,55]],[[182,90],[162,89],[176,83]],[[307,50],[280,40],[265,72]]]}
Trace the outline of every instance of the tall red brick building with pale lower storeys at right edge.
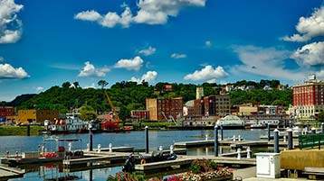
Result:
{"label": "tall red brick building with pale lower storeys at right edge", "polygon": [[324,81],[315,75],[303,84],[292,86],[294,116],[300,119],[314,119],[324,111]]}

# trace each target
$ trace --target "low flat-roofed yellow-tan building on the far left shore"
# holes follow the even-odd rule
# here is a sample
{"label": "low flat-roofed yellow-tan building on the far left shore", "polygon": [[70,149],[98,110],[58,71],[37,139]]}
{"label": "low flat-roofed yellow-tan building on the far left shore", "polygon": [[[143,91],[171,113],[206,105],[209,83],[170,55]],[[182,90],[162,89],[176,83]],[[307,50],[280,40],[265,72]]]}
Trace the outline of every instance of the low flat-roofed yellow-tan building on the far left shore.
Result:
{"label": "low flat-roofed yellow-tan building on the far left shore", "polygon": [[59,111],[55,110],[18,110],[18,115],[15,116],[16,123],[43,123],[45,120],[53,122],[59,119]]}

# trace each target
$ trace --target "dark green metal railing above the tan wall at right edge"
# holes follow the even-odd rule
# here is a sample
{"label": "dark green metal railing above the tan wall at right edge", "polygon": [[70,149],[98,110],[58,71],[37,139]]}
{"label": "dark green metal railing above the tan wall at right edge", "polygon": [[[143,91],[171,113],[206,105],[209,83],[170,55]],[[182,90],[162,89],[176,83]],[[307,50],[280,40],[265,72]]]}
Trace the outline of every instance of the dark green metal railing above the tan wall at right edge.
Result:
{"label": "dark green metal railing above the tan wall at right edge", "polygon": [[320,149],[320,145],[324,145],[324,133],[300,135],[298,140],[300,149],[314,147]]}

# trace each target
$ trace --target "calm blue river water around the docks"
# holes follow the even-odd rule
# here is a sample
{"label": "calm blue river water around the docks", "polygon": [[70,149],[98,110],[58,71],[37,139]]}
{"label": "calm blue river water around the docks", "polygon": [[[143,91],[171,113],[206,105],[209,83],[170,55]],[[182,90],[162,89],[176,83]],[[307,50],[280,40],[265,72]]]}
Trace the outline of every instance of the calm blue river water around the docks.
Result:
{"label": "calm blue river water around the docks", "polygon": [[[205,135],[209,139],[214,139],[214,131],[149,131],[149,149],[155,150],[159,146],[164,149],[169,148],[174,142],[186,140],[205,140]],[[265,130],[224,130],[224,138],[236,137],[241,135],[244,140],[260,140],[261,135],[265,135]],[[78,144],[73,143],[72,149],[86,149],[89,142],[88,134],[68,134],[68,135],[54,135],[60,138],[81,139]],[[2,136],[0,137],[0,155],[5,156],[6,151],[14,154],[16,151],[36,151],[38,146],[43,142],[43,135],[40,136]],[[144,131],[130,131],[119,133],[98,133],[93,134],[93,147],[97,148],[101,144],[101,148],[108,148],[109,144],[113,147],[129,146],[135,149],[145,148],[145,134]],[[231,150],[222,149],[220,152],[229,152]],[[189,155],[213,155],[214,148],[194,148],[188,150]],[[121,167],[103,167],[99,169],[86,171],[64,170],[60,166],[39,166],[29,168],[27,174],[23,178],[16,178],[12,180],[47,180],[56,179],[60,177],[70,177],[77,180],[106,180],[109,175],[114,175],[119,172]]]}

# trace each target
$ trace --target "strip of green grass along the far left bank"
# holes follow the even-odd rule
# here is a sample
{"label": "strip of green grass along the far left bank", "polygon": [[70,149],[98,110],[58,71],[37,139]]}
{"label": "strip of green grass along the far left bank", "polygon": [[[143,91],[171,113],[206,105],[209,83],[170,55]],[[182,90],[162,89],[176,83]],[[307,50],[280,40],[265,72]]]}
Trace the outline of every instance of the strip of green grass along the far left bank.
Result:
{"label": "strip of green grass along the far left bank", "polygon": [[[40,130],[43,130],[43,126],[31,126],[31,135],[38,135]],[[27,126],[12,126],[12,125],[0,126],[0,136],[12,136],[12,135],[26,136]]]}

